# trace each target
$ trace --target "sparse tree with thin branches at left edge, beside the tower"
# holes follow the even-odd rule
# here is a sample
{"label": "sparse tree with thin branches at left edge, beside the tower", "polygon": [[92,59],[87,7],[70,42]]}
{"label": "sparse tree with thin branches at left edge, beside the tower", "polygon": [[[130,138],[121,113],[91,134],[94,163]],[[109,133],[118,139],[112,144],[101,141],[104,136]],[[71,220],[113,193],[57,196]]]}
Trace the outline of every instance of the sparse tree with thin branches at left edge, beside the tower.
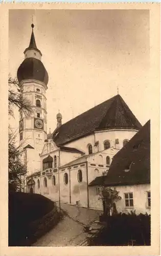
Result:
{"label": "sparse tree with thin branches at left edge, beside the tower", "polygon": [[[13,79],[10,75],[8,78],[8,114],[10,117],[14,118],[14,108],[18,108],[22,110],[26,116],[31,115],[32,108],[31,103],[28,99],[22,96],[19,89],[19,84],[17,79]],[[20,190],[22,184],[24,183],[24,177],[27,173],[27,168],[24,163],[22,163],[19,155],[20,147],[22,143],[17,146],[16,145],[16,132],[12,132],[11,127],[9,125],[9,189],[10,190]]]}

